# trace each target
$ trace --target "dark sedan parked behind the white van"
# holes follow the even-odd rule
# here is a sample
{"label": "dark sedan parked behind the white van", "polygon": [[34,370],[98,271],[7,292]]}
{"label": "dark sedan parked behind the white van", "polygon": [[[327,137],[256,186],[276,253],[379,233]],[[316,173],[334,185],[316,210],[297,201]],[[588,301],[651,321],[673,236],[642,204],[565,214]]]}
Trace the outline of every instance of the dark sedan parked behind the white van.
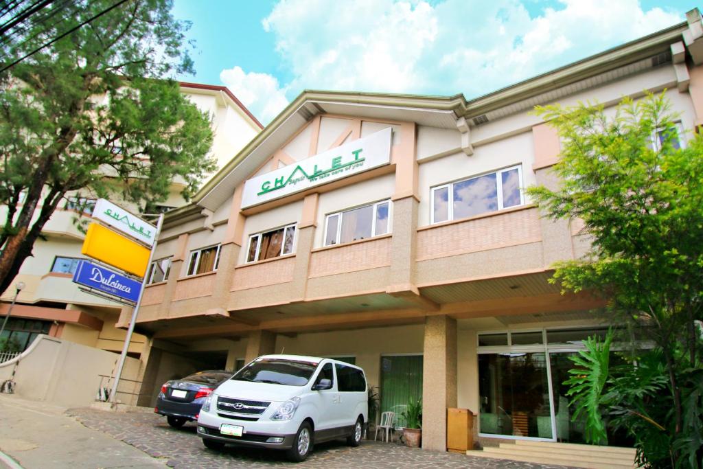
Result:
{"label": "dark sedan parked behind the white van", "polygon": [[166,416],[169,425],[175,428],[198,420],[205,397],[233,374],[223,370],[198,371],[180,380],[167,381],[161,387],[154,412]]}

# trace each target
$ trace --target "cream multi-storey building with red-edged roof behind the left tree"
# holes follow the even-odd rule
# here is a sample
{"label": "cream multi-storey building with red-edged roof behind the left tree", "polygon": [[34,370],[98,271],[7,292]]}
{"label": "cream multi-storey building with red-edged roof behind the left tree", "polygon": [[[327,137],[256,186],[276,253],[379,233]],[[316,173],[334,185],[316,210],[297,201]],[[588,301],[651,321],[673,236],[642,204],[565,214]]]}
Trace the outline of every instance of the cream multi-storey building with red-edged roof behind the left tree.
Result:
{"label": "cream multi-storey building with red-edged roof behind the left tree", "polygon": [[[214,139],[212,155],[218,167],[237,153],[261,129],[262,124],[225,86],[181,83],[181,92],[202,111],[212,116]],[[162,210],[180,207],[183,188],[179,181],[172,184],[171,195]],[[39,333],[63,338],[82,345],[120,352],[124,344],[124,330],[115,328],[121,304],[83,293],[72,283],[71,277],[81,255],[83,234],[74,220],[77,210],[89,216],[90,200],[70,197],[60,205],[44,226],[46,240],[34,244],[34,257],[22,265],[12,285],[24,282],[25,288],[17,298],[4,337],[25,349]],[[156,275],[156,274],[154,274]],[[8,310],[15,295],[11,287],[2,295],[0,318]],[[136,335],[129,347],[132,356],[138,356],[145,338]]]}

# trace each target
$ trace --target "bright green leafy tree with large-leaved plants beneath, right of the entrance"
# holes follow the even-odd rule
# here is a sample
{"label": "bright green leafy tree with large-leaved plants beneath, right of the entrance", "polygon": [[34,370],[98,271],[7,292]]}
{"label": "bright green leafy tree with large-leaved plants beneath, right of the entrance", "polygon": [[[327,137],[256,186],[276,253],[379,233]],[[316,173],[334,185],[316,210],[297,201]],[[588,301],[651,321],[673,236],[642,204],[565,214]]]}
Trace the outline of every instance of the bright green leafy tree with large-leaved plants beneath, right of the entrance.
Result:
{"label": "bright green leafy tree with large-leaved plants beneath, right of the entrance", "polygon": [[583,103],[536,113],[562,139],[553,167],[562,184],[529,193],[548,216],[581,219],[592,242],[583,259],[557,264],[553,281],[605,297],[631,349],[622,354],[626,365],[609,366],[612,338],[586,343],[567,382],[577,412],[587,414],[592,442],[605,437],[605,415],[636,439],[641,462],[698,467],[703,138],[693,134],[680,148],[664,93],[625,99],[612,117],[603,105]]}

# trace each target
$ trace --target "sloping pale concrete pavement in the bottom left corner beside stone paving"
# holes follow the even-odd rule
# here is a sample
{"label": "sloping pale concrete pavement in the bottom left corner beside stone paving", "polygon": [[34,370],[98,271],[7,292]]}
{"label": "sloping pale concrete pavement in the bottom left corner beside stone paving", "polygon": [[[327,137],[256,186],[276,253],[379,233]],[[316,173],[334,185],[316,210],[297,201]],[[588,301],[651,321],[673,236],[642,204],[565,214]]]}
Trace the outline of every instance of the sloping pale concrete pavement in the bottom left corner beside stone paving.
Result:
{"label": "sloping pale concrete pavement in the bottom left corner beside stone paving", "polygon": [[[103,432],[66,416],[65,407],[0,394],[0,468],[136,468],[163,469],[152,458]],[[9,461],[9,462],[8,462]]]}

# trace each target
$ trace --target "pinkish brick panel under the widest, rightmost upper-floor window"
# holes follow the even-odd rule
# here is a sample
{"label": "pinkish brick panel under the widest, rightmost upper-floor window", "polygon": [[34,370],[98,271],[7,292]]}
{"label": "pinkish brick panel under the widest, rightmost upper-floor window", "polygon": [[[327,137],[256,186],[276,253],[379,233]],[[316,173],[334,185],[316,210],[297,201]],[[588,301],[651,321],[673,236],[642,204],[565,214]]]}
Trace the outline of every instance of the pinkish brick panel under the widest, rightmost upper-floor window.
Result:
{"label": "pinkish brick panel under the widest, rightmost upper-floor window", "polygon": [[535,207],[418,231],[418,261],[541,240]]}

